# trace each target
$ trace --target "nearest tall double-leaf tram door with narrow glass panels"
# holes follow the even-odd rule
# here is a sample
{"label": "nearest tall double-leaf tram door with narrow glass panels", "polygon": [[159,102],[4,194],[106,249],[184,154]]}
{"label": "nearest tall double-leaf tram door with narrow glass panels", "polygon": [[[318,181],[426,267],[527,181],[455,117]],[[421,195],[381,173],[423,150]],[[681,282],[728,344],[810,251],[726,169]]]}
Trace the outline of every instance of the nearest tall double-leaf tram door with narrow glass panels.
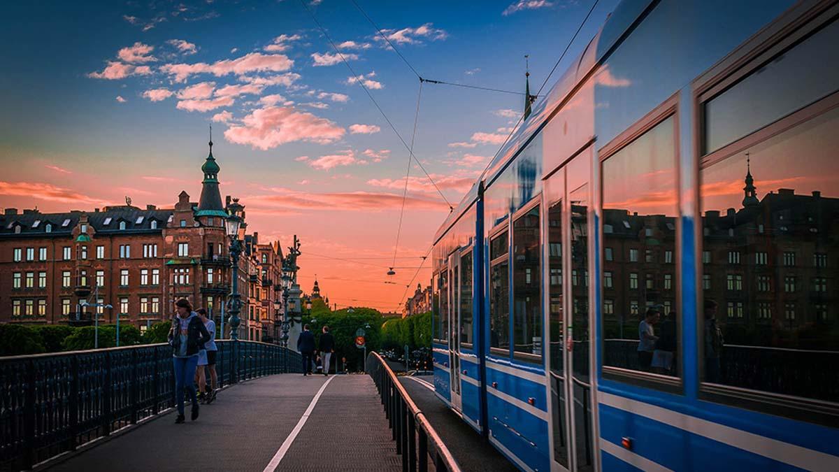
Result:
{"label": "nearest tall double-leaf tram door with narrow glass panels", "polygon": [[545,181],[545,303],[549,327],[552,470],[595,469],[588,273],[591,150]]}

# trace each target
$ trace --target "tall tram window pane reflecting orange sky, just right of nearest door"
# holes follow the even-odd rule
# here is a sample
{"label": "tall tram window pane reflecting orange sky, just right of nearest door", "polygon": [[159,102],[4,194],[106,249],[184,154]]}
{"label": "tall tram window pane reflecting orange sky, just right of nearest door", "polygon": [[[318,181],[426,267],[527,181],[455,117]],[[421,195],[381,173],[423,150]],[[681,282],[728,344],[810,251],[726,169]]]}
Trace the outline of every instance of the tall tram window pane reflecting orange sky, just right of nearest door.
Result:
{"label": "tall tram window pane reflecting orange sky, just right of nearest door", "polygon": [[638,257],[675,249],[674,125],[672,116],[664,119],[603,161],[602,223],[613,228],[603,244],[628,258],[604,258],[612,284],[603,287],[602,329],[604,366],[679,376],[679,319],[666,308],[675,305],[675,291],[654,283],[664,280],[665,265]]}

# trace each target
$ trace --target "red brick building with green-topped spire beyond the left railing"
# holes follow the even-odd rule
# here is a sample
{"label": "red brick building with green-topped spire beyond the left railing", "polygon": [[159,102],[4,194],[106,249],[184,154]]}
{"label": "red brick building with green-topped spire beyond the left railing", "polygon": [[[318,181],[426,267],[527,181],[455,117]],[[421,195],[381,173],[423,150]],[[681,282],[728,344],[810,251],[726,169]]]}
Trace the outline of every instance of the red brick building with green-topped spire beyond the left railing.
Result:
{"label": "red brick building with green-topped spire beyond the left railing", "polygon": [[[181,297],[218,319],[231,281],[230,197],[222,203],[219,170],[210,143],[199,202],[181,191],[172,208],[143,209],[130,200],[93,212],[6,208],[0,215],[0,323],[84,321],[96,310],[102,323],[116,323],[118,315],[144,330],[171,317]],[[279,281],[282,254],[277,243],[258,244],[255,233],[242,237],[240,338],[263,339],[273,336],[275,316],[269,303],[274,286],[264,282]],[[85,309],[83,302],[112,308]]]}

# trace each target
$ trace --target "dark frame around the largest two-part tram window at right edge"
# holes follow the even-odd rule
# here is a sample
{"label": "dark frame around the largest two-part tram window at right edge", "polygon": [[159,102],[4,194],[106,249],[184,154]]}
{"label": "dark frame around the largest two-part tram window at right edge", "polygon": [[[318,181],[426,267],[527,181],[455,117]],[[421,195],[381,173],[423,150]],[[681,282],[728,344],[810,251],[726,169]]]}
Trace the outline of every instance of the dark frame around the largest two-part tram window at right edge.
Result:
{"label": "dark frame around the largest two-part tram window at right edge", "polygon": [[[725,160],[736,158],[743,149],[751,149],[754,146],[768,142],[784,132],[794,130],[806,123],[818,119],[826,113],[839,108],[839,91],[831,92],[826,97],[821,97],[816,102],[804,103],[801,108],[787,115],[777,118],[774,122],[765,124],[748,131],[747,134],[734,139],[731,143],[725,144],[719,149],[706,152],[706,116],[704,113],[706,102],[710,102],[723,92],[736,87],[741,81],[753,76],[760,71],[763,65],[774,60],[779,55],[785,55],[795,48],[796,45],[810,38],[822,29],[833,23],[839,22],[836,15],[839,14],[839,5],[826,5],[825,3],[798,4],[790,8],[774,23],[769,24],[758,34],[748,39],[743,45],[737,48],[731,55],[712,66],[708,71],[697,77],[694,83],[694,127],[696,140],[696,155],[699,158],[695,162],[695,206],[696,215],[701,215],[701,185],[702,170],[722,163]],[[834,25],[835,27],[836,25]],[[762,227],[763,225],[761,225]],[[702,254],[704,248],[704,233],[702,224],[696,224],[696,260]],[[762,229],[762,228],[761,228]],[[701,279],[703,264],[696,265],[697,278]],[[778,282],[780,283],[780,282]],[[697,284],[698,285],[698,284]],[[772,288],[772,281],[769,281],[769,288]],[[778,287],[774,287],[778,288]],[[703,306],[705,293],[699,289],[696,296],[696,351],[698,364],[698,394],[704,401],[712,401],[725,406],[745,408],[755,412],[763,412],[772,415],[789,417],[799,421],[811,422],[826,426],[835,426],[839,418],[839,407],[820,401],[815,398],[804,396],[789,396],[771,391],[758,391],[735,385],[723,385],[710,383],[704,380],[704,317]],[[763,312],[764,308],[771,309],[774,303],[760,302],[755,307],[754,316],[765,318],[771,317],[769,311]],[[717,308],[718,312],[723,310],[722,302]],[[783,316],[783,315],[780,315]]]}

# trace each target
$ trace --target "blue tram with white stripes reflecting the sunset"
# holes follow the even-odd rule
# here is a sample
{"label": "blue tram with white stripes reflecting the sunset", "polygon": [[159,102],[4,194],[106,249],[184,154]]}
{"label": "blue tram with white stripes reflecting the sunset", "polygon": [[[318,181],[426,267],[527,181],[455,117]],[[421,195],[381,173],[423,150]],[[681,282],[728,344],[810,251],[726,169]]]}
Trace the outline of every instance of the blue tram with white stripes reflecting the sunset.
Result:
{"label": "blue tram with white stripes reflecting the sunset", "polygon": [[839,3],[627,0],[435,235],[522,470],[839,470]]}

